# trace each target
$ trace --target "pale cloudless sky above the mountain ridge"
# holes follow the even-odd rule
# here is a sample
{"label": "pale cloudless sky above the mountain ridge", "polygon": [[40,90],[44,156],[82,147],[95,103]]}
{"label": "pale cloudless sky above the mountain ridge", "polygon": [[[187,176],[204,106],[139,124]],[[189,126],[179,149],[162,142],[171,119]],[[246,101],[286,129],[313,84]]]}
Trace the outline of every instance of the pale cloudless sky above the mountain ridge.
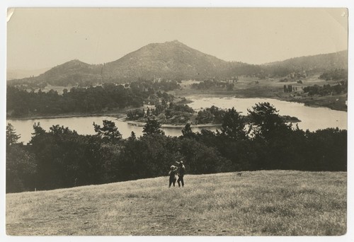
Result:
{"label": "pale cloudless sky above the mountain ridge", "polygon": [[[8,13],[12,13],[8,9]],[[263,64],[348,49],[346,8],[15,8],[7,68],[112,62],[178,40],[226,61]]]}

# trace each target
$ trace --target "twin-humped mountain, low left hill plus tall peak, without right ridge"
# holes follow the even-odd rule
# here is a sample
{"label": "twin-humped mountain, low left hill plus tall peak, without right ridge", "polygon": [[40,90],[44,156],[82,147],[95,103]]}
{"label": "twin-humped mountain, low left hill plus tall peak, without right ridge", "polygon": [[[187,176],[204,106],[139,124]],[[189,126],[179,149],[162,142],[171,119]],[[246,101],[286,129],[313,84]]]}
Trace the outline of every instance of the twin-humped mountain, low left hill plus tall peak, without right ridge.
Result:
{"label": "twin-humped mountain, low left hill plus tall peak, without right ridge", "polygon": [[105,64],[91,65],[72,60],[46,71],[40,76],[13,80],[10,84],[30,83],[46,86],[89,86],[96,83],[127,83],[152,79],[227,78],[232,67],[251,66],[226,62],[194,50],[177,40],[152,43],[124,57]]}

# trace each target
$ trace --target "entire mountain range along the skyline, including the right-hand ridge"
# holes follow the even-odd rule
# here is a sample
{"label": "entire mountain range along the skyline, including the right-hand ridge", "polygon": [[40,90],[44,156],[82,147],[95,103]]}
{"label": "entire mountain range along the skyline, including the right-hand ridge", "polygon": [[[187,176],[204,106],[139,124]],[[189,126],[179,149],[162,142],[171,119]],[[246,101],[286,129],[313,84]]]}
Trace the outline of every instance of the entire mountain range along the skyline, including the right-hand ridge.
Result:
{"label": "entire mountain range along the skyline, including the right-hand ridge", "polygon": [[310,73],[329,69],[348,69],[348,51],[253,65],[226,62],[174,40],[146,45],[105,64],[93,65],[75,59],[53,67],[39,76],[12,80],[8,84],[24,84],[29,87],[45,87],[47,83],[52,86],[90,86],[97,83],[127,83],[160,78],[203,81],[232,79],[233,76],[240,75],[281,77],[294,71]]}

